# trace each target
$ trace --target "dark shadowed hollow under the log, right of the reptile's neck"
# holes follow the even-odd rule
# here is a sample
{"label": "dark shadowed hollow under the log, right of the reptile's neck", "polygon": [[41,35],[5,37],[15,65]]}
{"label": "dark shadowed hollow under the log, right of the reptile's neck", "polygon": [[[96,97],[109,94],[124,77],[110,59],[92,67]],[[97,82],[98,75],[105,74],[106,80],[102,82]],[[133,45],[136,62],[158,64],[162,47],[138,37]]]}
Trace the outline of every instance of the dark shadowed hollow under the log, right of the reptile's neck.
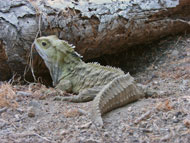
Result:
{"label": "dark shadowed hollow under the log, right of the reptile's neck", "polygon": [[[183,36],[175,35],[174,37],[170,36],[149,45],[130,47],[126,52],[113,55],[106,54],[99,58],[88,60],[88,62],[99,62],[102,65],[119,67],[125,73],[129,72],[131,75],[135,76],[149,68],[159,68],[160,65],[166,64],[168,53],[177,51],[174,49],[179,50],[179,47],[181,47],[182,50],[183,47],[188,46],[187,43],[184,42],[184,39],[188,39],[189,37],[190,34],[185,34]],[[179,52],[182,51],[179,50]],[[182,55],[187,56],[188,54],[184,53]],[[181,58],[183,58],[183,56]],[[176,57],[173,56],[172,58],[175,59]]]}

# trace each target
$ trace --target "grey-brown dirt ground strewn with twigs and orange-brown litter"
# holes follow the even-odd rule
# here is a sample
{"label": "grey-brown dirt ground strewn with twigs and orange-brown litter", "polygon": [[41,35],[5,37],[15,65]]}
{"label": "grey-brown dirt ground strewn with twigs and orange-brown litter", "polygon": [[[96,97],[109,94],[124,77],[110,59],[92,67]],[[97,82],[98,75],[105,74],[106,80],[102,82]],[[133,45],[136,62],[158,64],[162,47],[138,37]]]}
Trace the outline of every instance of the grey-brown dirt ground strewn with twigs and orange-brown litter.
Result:
{"label": "grey-brown dirt ground strewn with twigs and orange-brown litter", "polygon": [[103,129],[96,128],[88,117],[92,102],[53,101],[54,93],[43,94],[53,89],[39,83],[1,82],[0,142],[190,142],[190,35],[161,40],[152,49],[156,52],[147,54],[153,60],[146,65],[140,59],[140,72],[133,76],[160,95],[107,113]]}

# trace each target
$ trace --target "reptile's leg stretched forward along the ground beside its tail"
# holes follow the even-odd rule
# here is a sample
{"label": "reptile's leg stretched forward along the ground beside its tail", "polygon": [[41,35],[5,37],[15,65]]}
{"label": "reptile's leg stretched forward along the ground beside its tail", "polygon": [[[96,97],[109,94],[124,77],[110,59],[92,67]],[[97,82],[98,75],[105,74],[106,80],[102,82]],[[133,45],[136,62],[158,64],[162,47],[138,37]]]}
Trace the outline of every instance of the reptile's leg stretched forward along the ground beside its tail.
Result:
{"label": "reptile's leg stretched forward along the ground beside its tail", "polygon": [[56,96],[54,100],[59,101],[70,101],[70,102],[88,102],[93,100],[98,92],[102,89],[102,87],[94,87],[94,88],[88,88],[80,92],[76,96],[70,96],[70,97],[64,97],[64,96]]}

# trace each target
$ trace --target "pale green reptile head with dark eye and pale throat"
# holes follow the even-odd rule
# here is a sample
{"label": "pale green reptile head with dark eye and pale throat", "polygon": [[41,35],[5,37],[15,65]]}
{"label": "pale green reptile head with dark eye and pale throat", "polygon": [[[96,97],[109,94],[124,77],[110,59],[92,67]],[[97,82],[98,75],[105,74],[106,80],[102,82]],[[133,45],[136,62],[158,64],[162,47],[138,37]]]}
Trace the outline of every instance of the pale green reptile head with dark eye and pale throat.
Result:
{"label": "pale green reptile head with dark eye and pale throat", "polygon": [[74,47],[57,36],[40,37],[34,42],[35,48],[44,60],[50,75],[56,84],[62,77],[63,70],[81,61],[81,57],[74,51]]}

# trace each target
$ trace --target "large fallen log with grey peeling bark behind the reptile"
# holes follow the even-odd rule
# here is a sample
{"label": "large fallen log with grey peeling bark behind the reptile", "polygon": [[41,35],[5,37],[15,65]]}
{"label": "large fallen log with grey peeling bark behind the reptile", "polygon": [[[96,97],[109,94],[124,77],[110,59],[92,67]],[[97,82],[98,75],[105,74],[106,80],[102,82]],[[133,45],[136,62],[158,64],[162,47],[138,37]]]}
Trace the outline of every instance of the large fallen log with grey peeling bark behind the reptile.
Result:
{"label": "large fallen log with grey peeling bark behind the reptile", "polygon": [[[87,60],[188,31],[189,18],[189,0],[2,0],[0,79],[24,72],[37,33],[69,41]],[[36,53],[34,66],[48,73]]]}

